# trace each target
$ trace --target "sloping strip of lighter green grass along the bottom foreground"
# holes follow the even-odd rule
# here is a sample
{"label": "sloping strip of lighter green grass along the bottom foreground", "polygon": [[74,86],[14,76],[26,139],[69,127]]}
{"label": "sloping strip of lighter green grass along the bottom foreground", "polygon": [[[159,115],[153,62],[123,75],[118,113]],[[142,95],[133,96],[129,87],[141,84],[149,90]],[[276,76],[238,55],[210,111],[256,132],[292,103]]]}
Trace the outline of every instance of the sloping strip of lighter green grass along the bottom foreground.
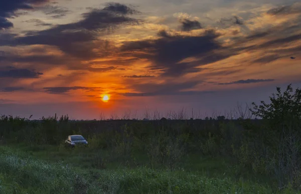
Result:
{"label": "sloping strip of lighter green grass along the bottom foreground", "polygon": [[243,179],[211,178],[185,170],[79,168],[7,146],[0,147],[0,166],[0,193],[276,193]]}

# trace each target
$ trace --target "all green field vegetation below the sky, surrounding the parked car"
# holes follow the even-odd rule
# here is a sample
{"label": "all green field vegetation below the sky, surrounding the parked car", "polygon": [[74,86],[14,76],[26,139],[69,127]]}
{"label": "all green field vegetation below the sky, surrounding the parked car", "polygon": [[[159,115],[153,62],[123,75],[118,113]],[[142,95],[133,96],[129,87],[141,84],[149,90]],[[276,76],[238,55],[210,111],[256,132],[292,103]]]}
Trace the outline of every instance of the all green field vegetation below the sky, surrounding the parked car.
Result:
{"label": "all green field vegetation below the sky, surrounding the parked car", "polygon": [[[0,193],[301,193],[301,90],[252,103],[260,119],[246,110],[205,120],[3,115]],[[89,146],[65,148],[69,134]]]}

